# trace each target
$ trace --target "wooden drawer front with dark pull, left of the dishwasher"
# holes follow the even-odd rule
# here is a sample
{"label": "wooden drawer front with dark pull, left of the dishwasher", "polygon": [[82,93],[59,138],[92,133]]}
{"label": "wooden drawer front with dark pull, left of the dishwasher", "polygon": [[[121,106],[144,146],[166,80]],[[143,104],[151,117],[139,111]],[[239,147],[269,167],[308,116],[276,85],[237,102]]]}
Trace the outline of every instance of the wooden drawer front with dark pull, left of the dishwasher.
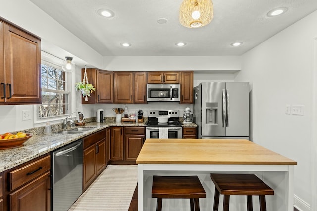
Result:
{"label": "wooden drawer front with dark pull, left of the dishwasher", "polygon": [[9,173],[10,190],[35,179],[44,172],[51,169],[51,156],[48,155],[44,158],[34,161],[24,167],[13,170]]}

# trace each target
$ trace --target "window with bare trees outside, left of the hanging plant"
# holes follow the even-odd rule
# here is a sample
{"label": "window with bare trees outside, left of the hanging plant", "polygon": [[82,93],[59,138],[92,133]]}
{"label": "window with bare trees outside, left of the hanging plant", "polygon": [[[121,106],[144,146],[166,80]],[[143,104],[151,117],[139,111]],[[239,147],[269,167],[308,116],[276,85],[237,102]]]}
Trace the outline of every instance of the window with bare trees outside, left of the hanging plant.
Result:
{"label": "window with bare trees outside, left of the hanging plant", "polygon": [[42,104],[36,106],[36,122],[62,119],[69,115],[71,110],[71,72],[62,70],[62,60],[42,51],[43,54],[45,60],[41,61]]}

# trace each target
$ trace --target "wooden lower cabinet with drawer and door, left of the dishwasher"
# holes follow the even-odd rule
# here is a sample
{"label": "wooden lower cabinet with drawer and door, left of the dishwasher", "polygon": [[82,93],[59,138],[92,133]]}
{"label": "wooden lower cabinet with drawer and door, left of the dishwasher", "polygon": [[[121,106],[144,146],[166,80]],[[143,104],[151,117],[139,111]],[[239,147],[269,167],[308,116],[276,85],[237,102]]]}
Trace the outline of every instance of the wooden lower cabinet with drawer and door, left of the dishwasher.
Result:
{"label": "wooden lower cabinet with drawer and door, left of the dishwasher", "polygon": [[[22,164],[4,173],[4,208],[9,211],[50,211],[51,156]],[[8,204],[6,204],[8,203]]]}

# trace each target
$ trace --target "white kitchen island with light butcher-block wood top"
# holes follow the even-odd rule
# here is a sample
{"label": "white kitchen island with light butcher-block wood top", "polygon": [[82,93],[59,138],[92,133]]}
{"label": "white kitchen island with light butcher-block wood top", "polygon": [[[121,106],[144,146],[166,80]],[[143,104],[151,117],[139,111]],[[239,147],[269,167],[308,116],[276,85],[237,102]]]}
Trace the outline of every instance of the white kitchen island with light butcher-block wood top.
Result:
{"label": "white kitchen island with light butcher-block wood top", "polygon": [[[267,210],[293,211],[294,165],[297,162],[248,140],[147,139],[136,163],[138,211],[155,210],[156,199],[151,198],[153,175],[198,175],[207,195],[206,199],[200,199],[201,211],[211,210],[214,192],[211,172],[252,172],[274,190],[274,196],[266,197]],[[233,196],[230,200],[232,210],[246,210],[246,198]],[[254,209],[258,210],[255,197],[254,203],[257,203]],[[185,199],[163,200],[164,211],[186,211],[188,205]]]}

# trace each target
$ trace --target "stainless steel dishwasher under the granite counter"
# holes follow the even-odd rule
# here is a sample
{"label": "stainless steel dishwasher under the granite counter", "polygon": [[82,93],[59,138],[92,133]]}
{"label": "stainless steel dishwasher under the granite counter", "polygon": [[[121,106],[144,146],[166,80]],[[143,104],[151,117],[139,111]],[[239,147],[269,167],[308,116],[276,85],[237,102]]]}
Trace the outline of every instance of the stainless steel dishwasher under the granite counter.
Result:
{"label": "stainless steel dishwasher under the granite counter", "polygon": [[52,154],[51,210],[67,211],[83,191],[83,141],[68,144]]}

